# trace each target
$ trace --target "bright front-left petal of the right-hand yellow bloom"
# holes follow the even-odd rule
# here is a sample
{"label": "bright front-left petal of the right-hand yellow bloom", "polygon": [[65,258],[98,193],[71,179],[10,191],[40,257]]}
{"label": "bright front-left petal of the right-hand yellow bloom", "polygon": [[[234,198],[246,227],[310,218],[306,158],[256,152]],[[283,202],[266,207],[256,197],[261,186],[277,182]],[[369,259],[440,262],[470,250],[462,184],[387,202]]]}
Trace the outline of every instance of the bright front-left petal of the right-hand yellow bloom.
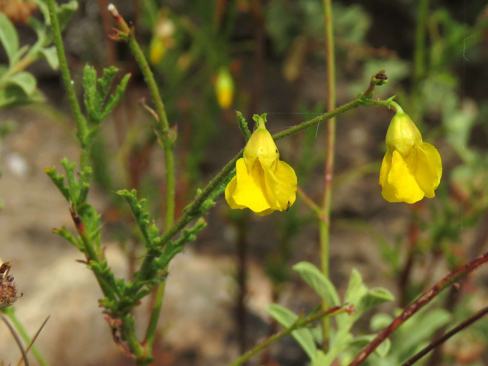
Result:
{"label": "bright front-left petal of the right-hand yellow bloom", "polygon": [[424,191],[415,180],[416,151],[408,154],[407,161],[397,150],[393,151],[391,169],[388,173],[388,183],[395,190],[395,196],[401,202],[415,203],[424,198]]}

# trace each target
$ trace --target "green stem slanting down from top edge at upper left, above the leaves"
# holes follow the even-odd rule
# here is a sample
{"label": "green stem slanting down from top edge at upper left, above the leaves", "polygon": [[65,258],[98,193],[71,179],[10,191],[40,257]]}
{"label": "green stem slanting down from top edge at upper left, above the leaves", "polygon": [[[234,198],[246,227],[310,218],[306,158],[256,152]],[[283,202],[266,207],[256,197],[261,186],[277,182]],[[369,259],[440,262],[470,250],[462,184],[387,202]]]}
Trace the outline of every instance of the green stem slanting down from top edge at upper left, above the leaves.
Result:
{"label": "green stem slanting down from top edge at upper left, above the leaves", "polygon": [[89,155],[89,152],[87,152],[89,143],[88,141],[86,141],[88,126],[86,124],[85,118],[81,114],[80,103],[78,102],[78,98],[76,97],[75,87],[73,85],[71,74],[68,69],[68,62],[66,61],[66,56],[64,55],[64,46],[61,39],[61,28],[58,20],[58,13],[56,11],[56,3],[54,0],[48,0],[47,6],[49,7],[49,16],[51,17],[51,24],[53,27],[54,44],[56,45],[56,51],[58,53],[64,87],[66,88],[69,104],[73,112],[73,116],[75,117],[76,125],[78,127],[77,137],[78,140],[80,140],[81,144],[80,170],[83,171],[83,169],[86,167],[86,164],[88,163],[88,160],[85,158],[85,156]]}

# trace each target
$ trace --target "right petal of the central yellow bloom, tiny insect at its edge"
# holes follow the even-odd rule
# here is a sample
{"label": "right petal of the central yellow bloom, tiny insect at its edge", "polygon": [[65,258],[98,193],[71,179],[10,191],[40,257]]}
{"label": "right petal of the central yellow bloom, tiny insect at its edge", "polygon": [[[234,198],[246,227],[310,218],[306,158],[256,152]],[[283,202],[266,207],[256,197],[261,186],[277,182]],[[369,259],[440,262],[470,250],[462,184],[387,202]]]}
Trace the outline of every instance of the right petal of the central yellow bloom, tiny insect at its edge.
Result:
{"label": "right petal of the central yellow bloom, tiny insect at its edge", "polygon": [[283,211],[295,202],[297,192],[297,176],[293,168],[278,160],[274,171],[264,169],[268,197],[275,210]]}

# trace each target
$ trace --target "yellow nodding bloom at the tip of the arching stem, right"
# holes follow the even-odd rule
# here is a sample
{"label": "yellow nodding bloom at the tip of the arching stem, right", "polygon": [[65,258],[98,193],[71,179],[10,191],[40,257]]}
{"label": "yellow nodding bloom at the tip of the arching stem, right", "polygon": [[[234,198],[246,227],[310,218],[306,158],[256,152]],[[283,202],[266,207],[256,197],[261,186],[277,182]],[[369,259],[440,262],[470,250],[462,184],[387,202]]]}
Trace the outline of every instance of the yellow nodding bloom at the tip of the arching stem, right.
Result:
{"label": "yellow nodding bloom at the tip of the arching stem, right", "polygon": [[388,202],[415,203],[433,198],[442,175],[441,156],[410,117],[395,105],[386,132],[386,154],[380,170],[381,194]]}

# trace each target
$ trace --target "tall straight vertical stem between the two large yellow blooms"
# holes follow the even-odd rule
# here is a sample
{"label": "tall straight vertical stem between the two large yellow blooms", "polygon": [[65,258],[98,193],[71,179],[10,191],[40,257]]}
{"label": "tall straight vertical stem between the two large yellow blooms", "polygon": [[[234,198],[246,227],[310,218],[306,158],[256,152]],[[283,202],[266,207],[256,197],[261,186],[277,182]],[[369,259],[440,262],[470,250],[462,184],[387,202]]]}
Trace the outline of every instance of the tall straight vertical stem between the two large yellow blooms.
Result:
{"label": "tall straight vertical stem between the two large yellow blooms", "polygon": [[[334,54],[334,27],[332,23],[332,1],[324,0],[324,22],[325,22],[325,60],[327,66],[327,111],[335,108],[335,54]],[[325,138],[325,175],[324,175],[324,197],[322,203],[324,221],[319,222],[320,237],[320,260],[322,273],[329,277],[329,230],[330,230],[330,209],[332,199],[332,175],[334,173],[335,155],[335,118],[327,121],[327,134]],[[329,304],[323,302],[322,308],[325,310]],[[323,349],[327,349],[329,338],[329,320],[324,318],[322,321]]]}

